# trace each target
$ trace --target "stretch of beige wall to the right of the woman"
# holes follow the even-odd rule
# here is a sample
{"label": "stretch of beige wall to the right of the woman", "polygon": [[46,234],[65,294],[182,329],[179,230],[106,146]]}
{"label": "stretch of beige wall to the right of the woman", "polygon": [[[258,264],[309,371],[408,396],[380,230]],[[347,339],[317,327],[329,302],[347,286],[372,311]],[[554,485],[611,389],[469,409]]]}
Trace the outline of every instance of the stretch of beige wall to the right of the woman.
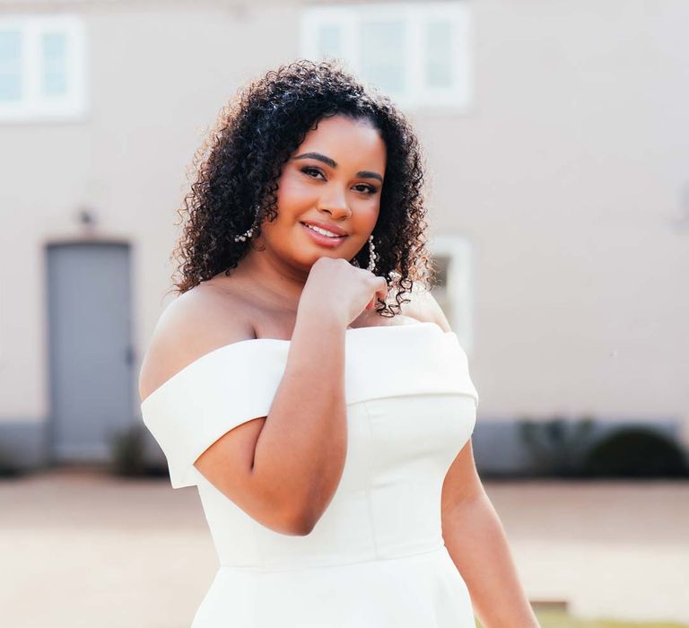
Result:
{"label": "stretch of beige wall to the right of the woman", "polygon": [[475,111],[422,128],[484,413],[687,417],[689,5],[473,6]]}

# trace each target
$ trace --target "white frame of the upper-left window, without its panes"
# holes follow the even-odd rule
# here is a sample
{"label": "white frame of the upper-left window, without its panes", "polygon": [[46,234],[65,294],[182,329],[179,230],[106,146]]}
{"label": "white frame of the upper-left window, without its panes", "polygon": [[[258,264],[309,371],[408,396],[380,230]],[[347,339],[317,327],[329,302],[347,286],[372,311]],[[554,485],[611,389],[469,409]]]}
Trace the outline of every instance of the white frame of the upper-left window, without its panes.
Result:
{"label": "white frame of the upper-left window, without its panes", "polygon": [[[78,15],[13,15],[0,17],[0,31],[18,31],[22,40],[22,99],[0,102],[0,124],[83,119],[86,101],[86,54],[83,20]],[[61,32],[67,38],[67,92],[46,97],[40,92],[43,66],[41,37]]]}

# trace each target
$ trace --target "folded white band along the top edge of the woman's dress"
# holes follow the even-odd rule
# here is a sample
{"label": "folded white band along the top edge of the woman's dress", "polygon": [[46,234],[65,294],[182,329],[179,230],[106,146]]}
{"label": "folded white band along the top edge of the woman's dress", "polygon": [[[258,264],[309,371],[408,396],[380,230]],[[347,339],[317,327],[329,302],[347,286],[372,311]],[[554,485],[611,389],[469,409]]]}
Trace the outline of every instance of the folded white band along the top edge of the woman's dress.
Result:
{"label": "folded white band along the top edge of the woman's dress", "polygon": [[[197,484],[194,462],[205,449],[240,423],[268,415],[289,347],[271,338],[225,345],[144,399],[142,417],[168,460],[172,486]],[[345,349],[347,405],[433,393],[466,395],[478,405],[457,336],[434,323],[349,329]]]}

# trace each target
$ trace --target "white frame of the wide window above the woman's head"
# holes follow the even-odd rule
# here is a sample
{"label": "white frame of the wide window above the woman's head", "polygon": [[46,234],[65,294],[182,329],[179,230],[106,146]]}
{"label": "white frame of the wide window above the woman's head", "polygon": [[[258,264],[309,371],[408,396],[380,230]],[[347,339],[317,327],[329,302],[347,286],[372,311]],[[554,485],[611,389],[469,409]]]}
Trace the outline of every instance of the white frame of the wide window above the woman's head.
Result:
{"label": "white frame of the wide window above the woman's head", "polygon": [[[371,81],[362,74],[362,23],[370,20],[402,19],[405,22],[406,93],[388,94],[405,109],[440,108],[467,112],[472,106],[472,35],[471,13],[466,0],[447,2],[394,2],[385,4],[328,4],[309,6],[301,14],[301,57],[319,61],[319,31],[337,26],[342,34],[342,57],[337,57],[362,83]],[[442,19],[452,26],[452,88],[432,88],[423,82],[426,49],[423,27],[426,22]]]}

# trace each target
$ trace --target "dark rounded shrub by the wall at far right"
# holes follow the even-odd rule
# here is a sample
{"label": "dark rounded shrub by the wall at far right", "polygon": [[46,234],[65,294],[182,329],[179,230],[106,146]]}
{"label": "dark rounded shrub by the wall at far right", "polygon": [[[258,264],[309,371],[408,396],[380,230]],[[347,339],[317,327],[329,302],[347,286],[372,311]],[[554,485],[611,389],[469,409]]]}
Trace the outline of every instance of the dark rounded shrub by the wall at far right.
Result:
{"label": "dark rounded shrub by the wall at far right", "polygon": [[676,442],[646,428],[624,428],[597,442],[584,458],[583,471],[595,477],[689,475],[685,453]]}

